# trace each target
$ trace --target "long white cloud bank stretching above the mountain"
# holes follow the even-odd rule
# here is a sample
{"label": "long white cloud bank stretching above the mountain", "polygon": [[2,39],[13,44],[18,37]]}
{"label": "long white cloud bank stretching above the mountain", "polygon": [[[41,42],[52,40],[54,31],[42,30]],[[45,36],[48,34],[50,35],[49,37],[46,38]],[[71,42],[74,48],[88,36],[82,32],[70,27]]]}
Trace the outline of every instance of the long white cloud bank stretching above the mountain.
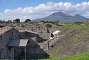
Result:
{"label": "long white cloud bank stretching above the mountain", "polygon": [[89,17],[89,2],[82,3],[70,3],[70,2],[48,2],[42,3],[37,6],[30,7],[19,7],[16,9],[6,9],[4,10],[4,14],[9,16],[18,16],[18,15],[27,15],[35,18],[34,16],[46,16],[54,11],[64,11],[70,14],[80,14]]}

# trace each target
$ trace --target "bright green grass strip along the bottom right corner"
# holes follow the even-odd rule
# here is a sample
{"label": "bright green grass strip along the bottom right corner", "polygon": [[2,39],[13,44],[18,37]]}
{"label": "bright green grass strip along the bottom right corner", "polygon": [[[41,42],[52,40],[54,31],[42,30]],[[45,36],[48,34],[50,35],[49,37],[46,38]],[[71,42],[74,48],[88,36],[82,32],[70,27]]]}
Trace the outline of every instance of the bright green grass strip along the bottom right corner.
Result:
{"label": "bright green grass strip along the bottom right corner", "polygon": [[89,60],[89,52],[83,52],[80,54],[76,54],[76,55],[68,56],[64,58],[52,56],[49,59],[42,59],[42,60]]}

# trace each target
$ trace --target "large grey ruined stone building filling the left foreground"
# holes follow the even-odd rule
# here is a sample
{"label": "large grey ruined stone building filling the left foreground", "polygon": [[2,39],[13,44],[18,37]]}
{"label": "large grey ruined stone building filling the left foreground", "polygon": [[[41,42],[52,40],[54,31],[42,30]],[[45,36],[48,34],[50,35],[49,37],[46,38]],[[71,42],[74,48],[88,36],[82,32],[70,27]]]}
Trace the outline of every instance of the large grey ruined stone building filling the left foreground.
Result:
{"label": "large grey ruined stone building filling the left foreground", "polygon": [[40,48],[36,39],[38,34],[33,32],[18,31],[12,27],[0,28],[0,58],[1,59],[20,59],[30,58],[35,55],[48,54]]}

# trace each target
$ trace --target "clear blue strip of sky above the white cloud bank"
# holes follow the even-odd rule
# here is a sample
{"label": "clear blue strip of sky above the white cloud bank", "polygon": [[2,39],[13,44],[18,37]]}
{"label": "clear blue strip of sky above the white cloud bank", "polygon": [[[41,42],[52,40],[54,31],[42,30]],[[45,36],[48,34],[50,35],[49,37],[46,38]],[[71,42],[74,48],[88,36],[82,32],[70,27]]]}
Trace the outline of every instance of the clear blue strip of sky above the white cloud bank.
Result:
{"label": "clear blue strip of sky above the white cloud bank", "polygon": [[18,7],[36,6],[47,2],[72,2],[81,3],[89,0],[0,0],[1,11],[7,8],[14,9]]}

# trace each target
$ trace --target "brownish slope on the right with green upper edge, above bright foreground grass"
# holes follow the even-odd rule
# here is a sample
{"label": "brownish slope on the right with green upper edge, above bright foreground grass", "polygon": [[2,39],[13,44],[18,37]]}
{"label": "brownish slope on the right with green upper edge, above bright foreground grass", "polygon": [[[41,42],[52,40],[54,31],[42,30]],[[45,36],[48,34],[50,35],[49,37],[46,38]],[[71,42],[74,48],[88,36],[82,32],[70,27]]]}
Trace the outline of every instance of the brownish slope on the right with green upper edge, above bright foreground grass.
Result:
{"label": "brownish slope on the right with green upper edge, above bright foreground grass", "polygon": [[64,37],[49,50],[52,56],[66,57],[89,51],[89,24],[65,24],[62,30]]}

